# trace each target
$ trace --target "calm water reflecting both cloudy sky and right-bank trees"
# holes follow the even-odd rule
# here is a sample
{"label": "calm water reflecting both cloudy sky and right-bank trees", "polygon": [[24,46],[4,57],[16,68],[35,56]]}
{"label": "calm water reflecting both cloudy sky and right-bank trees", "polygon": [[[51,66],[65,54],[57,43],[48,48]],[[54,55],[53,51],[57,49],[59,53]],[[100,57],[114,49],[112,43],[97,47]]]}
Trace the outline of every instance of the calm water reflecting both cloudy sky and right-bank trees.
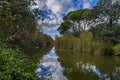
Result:
{"label": "calm water reflecting both cloudy sky and right-bank trees", "polygon": [[52,48],[40,59],[35,72],[44,80],[120,80],[120,57]]}

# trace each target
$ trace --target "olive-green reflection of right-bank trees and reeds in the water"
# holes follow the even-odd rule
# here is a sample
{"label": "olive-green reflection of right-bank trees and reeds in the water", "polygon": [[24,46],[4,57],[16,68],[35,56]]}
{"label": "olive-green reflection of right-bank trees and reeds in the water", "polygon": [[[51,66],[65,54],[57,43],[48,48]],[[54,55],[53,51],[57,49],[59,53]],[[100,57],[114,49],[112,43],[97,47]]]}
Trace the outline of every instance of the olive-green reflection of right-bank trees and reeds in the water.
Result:
{"label": "olive-green reflection of right-bank trees and reeds in the water", "polygon": [[68,80],[120,80],[120,57],[57,51]]}

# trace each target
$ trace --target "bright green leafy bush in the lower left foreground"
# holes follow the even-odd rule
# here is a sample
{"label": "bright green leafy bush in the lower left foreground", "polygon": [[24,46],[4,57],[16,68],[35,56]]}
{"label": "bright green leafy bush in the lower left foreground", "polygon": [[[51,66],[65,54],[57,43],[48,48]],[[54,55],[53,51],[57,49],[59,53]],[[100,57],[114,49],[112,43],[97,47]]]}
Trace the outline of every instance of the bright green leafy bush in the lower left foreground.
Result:
{"label": "bright green leafy bush in the lower left foreground", "polygon": [[34,66],[18,49],[0,48],[0,80],[37,80]]}

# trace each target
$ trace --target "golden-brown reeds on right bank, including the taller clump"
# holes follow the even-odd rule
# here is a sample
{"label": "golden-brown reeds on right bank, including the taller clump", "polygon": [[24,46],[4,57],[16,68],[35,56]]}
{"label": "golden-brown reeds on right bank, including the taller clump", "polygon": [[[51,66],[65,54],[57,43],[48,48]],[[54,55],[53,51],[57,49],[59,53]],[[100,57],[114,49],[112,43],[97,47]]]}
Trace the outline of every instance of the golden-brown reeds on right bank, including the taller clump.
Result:
{"label": "golden-brown reeds on right bank, including the taller clump", "polygon": [[64,36],[55,41],[56,49],[90,52],[92,33],[83,31],[79,37]]}

